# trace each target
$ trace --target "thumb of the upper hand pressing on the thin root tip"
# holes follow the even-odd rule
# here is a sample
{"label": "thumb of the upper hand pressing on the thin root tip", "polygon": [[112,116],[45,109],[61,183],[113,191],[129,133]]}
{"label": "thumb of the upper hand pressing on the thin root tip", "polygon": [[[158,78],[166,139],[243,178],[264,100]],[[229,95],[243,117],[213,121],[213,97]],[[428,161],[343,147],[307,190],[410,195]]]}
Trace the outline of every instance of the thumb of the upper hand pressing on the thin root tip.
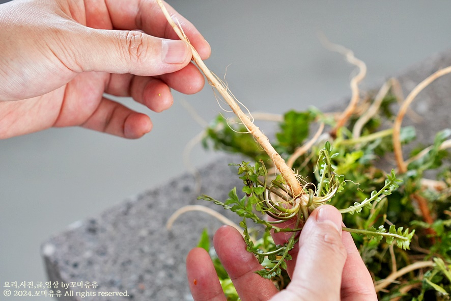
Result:
{"label": "thumb of the upper hand pressing on the thin root tip", "polygon": [[155,76],[178,71],[191,60],[187,43],[140,31],[88,29],[82,39],[85,53],[76,58],[82,71]]}

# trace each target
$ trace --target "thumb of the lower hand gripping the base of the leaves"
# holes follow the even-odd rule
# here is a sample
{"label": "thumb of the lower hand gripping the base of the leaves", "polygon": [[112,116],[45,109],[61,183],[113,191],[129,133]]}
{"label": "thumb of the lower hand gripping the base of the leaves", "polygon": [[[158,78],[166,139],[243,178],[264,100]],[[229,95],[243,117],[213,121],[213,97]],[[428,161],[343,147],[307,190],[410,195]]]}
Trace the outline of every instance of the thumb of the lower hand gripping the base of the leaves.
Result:
{"label": "thumb of the lower hand gripping the base of the leaves", "polygon": [[286,300],[340,300],[347,253],[342,242],[342,215],[333,206],[314,210],[299,237],[299,253]]}

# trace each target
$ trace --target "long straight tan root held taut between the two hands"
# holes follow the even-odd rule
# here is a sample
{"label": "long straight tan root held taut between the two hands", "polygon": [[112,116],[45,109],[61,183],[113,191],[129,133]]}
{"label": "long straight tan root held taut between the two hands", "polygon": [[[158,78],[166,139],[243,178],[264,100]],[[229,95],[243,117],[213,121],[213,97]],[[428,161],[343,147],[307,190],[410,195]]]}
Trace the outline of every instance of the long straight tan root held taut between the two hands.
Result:
{"label": "long straight tan root held taut between the two hands", "polygon": [[268,156],[274,162],[277,170],[283,175],[287,184],[290,186],[293,195],[300,196],[302,194],[302,186],[299,181],[296,179],[295,173],[292,169],[290,169],[285,163],[284,159],[276,152],[274,147],[269,143],[269,140],[265,134],[257,127],[250,118],[241,110],[240,105],[237,100],[229,93],[228,88],[224,87],[224,84],[221,83],[216,76],[211,73],[211,71],[207,68],[205,63],[202,61],[199,53],[194,49],[189,40],[186,38],[185,34],[181,31],[179,26],[174,22],[171,15],[167,12],[161,0],[157,0],[158,5],[160,6],[164,16],[167,21],[171,24],[174,31],[177,33],[179,38],[182,41],[185,41],[191,48],[192,51],[192,59],[196,65],[198,65],[199,69],[205,74],[207,77],[209,84],[214,87],[219,94],[224,98],[224,100],[229,104],[232,108],[232,111],[236,116],[241,120],[243,125],[248,129],[248,131],[252,134],[252,136],[257,140],[260,146],[266,151]]}

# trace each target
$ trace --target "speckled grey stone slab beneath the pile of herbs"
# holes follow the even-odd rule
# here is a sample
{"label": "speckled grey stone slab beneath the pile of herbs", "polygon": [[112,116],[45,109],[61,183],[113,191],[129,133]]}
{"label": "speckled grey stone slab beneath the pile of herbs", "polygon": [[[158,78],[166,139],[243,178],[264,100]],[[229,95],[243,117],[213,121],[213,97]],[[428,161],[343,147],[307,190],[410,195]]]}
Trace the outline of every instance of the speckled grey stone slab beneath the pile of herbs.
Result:
{"label": "speckled grey stone slab beneath the pile of herbs", "polygon": [[[399,78],[404,93],[439,68],[451,65],[451,51],[417,64]],[[335,102],[334,110],[345,100]],[[424,120],[416,124],[418,141],[428,144],[434,134],[451,128],[451,75],[436,80],[415,99],[412,108]],[[412,124],[405,119],[403,125]],[[202,193],[219,200],[240,184],[230,162],[239,158],[218,157],[201,169]],[[104,211],[100,216],[71,225],[42,245],[42,254],[52,281],[96,282],[96,288],[69,288],[74,296],[59,300],[192,300],[186,283],[185,256],[207,227],[214,233],[220,223],[200,212],[181,216],[172,231],[164,224],[178,208],[204,204],[224,213],[218,206],[196,201],[194,180],[181,175],[164,186],[139,194],[132,200]],[[237,218],[229,215],[233,220]],[[87,296],[76,296],[76,292]],[[97,296],[89,296],[95,292]],[[127,292],[127,296],[101,296],[99,292]],[[65,291],[63,291],[64,295]]]}

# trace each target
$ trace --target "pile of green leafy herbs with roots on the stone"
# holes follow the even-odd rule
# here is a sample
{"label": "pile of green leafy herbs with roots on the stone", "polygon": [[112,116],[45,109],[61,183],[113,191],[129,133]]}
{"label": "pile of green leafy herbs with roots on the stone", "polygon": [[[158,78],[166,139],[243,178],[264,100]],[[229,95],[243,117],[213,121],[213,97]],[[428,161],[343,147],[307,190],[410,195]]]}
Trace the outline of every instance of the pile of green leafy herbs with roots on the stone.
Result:
{"label": "pile of green leafy herbs with roots on the stone", "polygon": [[[258,273],[280,288],[289,282],[284,269],[291,259],[289,250],[297,242],[295,233],[309,212],[328,203],[343,213],[344,230],[352,233],[381,300],[450,299],[451,156],[446,147],[451,130],[438,132],[430,146],[417,146],[405,161],[405,171],[384,170],[394,161],[394,144],[412,145],[415,140],[413,127],[402,128],[399,141],[393,139],[395,129],[381,129],[382,124],[395,120],[391,108],[396,97],[387,92],[358,135],[355,127],[362,124],[359,120],[368,110],[354,111],[342,127],[336,127],[333,115],[316,109],[284,115],[272,145],[300,175],[301,196],[292,194],[280,174],[269,172],[273,169],[270,158],[250,135],[241,133],[246,132],[244,126],[229,124],[220,116],[207,129],[205,146],[240,153],[248,160],[237,165],[242,194],[234,188],[223,202],[201,198],[243,217],[240,226],[247,250],[264,266]],[[360,107],[368,109],[372,103],[368,99]],[[311,129],[320,127],[319,133],[324,124],[329,132],[316,135],[294,159],[292,154],[307,143]],[[435,179],[425,179],[430,171]],[[279,221],[290,219],[297,221],[295,227],[278,227]],[[271,230],[293,235],[286,244],[275,245]],[[208,236],[204,233],[203,237],[201,245],[208,249]],[[227,273],[213,260],[226,295],[237,300]]]}

